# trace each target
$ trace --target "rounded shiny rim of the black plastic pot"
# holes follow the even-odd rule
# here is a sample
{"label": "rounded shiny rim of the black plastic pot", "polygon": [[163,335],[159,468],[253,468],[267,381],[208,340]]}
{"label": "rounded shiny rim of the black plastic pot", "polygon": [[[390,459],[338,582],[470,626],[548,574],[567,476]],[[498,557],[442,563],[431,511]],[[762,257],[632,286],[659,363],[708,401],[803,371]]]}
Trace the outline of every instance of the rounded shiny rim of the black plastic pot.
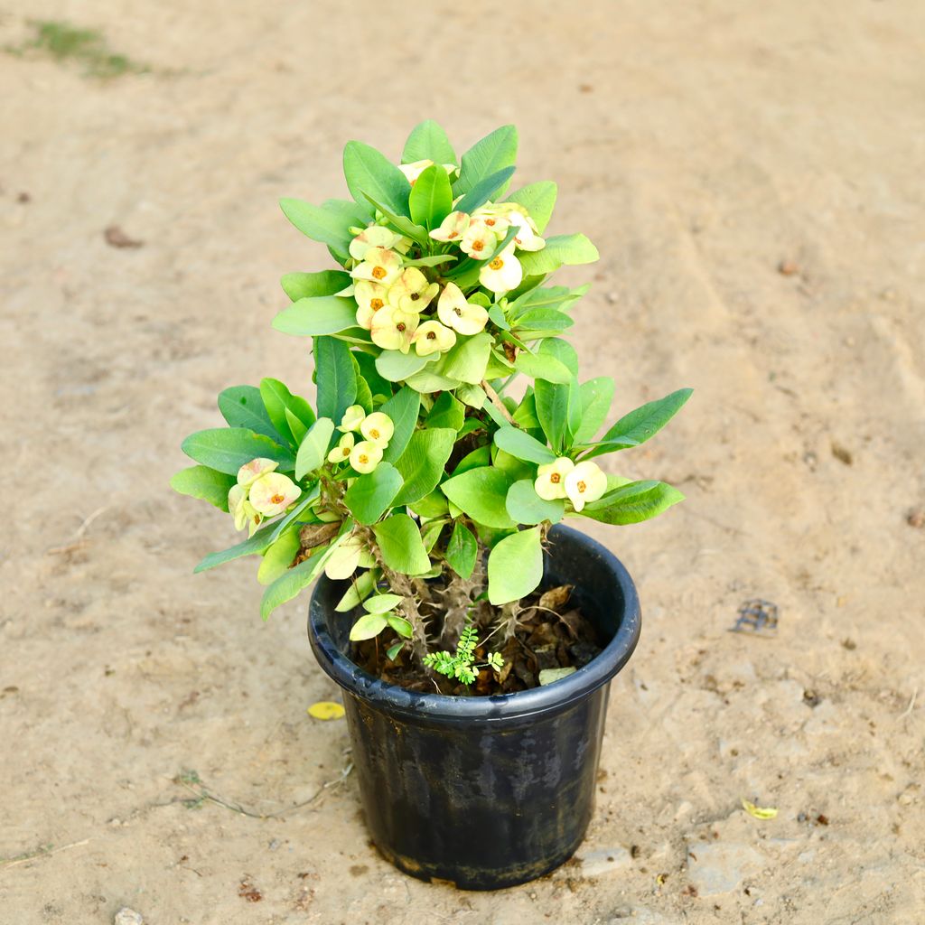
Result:
{"label": "rounded shiny rim of the black plastic pot", "polygon": [[577,700],[590,696],[606,685],[630,659],[639,641],[641,612],[639,597],[630,574],[617,557],[597,540],[564,524],[550,530],[551,538],[569,536],[586,546],[590,556],[598,558],[599,567],[611,572],[623,595],[620,627],[607,646],[585,666],[550,685],[528,691],[490,697],[453,697],[447,694],[421,694],[400,685],[392,685],[365,672],[343,655],[327,631],[318,599],[318,588],[328,579],[322,575],[309,605],[308,635],[322,670],[344,690],[373,704],[378,709],[405,717],[437,722],[499,722],[525,716],[559,712]]}

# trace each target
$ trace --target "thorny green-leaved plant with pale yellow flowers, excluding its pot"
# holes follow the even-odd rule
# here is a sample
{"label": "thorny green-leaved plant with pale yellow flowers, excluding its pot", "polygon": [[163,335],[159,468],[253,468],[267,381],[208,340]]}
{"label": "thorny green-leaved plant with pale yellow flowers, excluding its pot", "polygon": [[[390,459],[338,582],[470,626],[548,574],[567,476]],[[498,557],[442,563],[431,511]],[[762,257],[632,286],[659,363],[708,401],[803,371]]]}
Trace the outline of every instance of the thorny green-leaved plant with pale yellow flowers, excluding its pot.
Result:
{"label": "thorny green-leaved plant with pale yellow flowers, excluding its pot", "polygon": [[[400,164],[347,143],[351,199],[282,201],[335,264],[283,277],[291,304],[273,322],[308,339],[314,403],[273,378],[227,388],[228,426],[187,438],[197,464],[172,480],[248,530],[197,571],[260,557],[264,617],[323,572],[350,578],[338,610],[351,638],[386,634],[389,660],[432,672],[475,608],[425,620],[430,589],[487,597],[476,629],[503,639],[540,583],[552,524],[634,524],[682,499],[617,475],[614,454],[651,438],[690,390],[605,426],[613,380],[582,381],[567,339],[587,287],[548,282],[598,251],[583,234],[548,235],[554,183],[509,191],[516,153],[505,126],[457,157],[428,120]],[[482,667],[501,664],[491,653]]]}

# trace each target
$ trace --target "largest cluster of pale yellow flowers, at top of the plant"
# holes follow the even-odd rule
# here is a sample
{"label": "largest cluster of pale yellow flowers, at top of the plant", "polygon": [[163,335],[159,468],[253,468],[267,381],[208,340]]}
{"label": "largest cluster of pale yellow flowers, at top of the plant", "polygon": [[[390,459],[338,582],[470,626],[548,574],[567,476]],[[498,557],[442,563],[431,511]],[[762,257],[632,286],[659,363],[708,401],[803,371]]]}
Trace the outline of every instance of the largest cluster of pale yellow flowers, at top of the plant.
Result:
{"label": "largest cluster of pale yellow flowers, at top of the plant", "polygon": [[[480,261],[479,284],[496,295],[516,289],[524,278],[515,250],[538,251],[546,244],[526,209],[517,203],[487,203],[471,216],[451,212],[430,237],[456,245],[463,255]],[[510,243],[499,250],[509,237]],[[427,277],[426,267],[405,265],[410,246],[410,240],[381,225],[365,228],[351,241],[357,324],[383,350],[407,353],[413,347],[418,356],[445,353],[455,345],[457,335],[477,334],[486,326],[487,300],[485,305],[469,302],[454,282],[441,287]],[[425,315],[435,300],[436,317]]]}

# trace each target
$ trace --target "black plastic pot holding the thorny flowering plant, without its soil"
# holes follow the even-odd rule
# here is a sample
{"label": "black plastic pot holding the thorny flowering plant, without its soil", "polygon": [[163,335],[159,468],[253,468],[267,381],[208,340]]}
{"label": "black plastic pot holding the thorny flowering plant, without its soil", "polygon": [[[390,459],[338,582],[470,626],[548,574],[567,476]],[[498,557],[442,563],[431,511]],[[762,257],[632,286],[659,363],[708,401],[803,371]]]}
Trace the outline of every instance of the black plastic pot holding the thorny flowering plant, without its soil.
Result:
{"label": "black plastic pot holding the thorny flowering plant, without its soil", "polygon": [[569,527],[549,533],[545,586],[573,599],[609,644],[545,687],[444,697],[388,685],[351,662],[346,583],[322,578],[309,612],[321,667],[343,688],[366,824],[379,851],[422,880],[497,890],[557,868],[594,808],[611,678],[639,638],[639,599],[623,564]]}

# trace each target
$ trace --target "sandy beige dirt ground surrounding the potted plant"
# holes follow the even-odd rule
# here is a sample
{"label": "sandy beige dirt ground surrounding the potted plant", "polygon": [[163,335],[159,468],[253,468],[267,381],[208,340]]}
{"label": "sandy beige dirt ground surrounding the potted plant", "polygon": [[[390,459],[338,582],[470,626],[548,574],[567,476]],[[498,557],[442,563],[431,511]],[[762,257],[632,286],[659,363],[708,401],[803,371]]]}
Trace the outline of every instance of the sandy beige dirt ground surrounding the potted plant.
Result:
{"label": "sandy beige dirt ground surrounding the potted plant", "polygon": [[[28,18],[150,69],[0,56],[0,923],[925,919],[925,6],[30,0],[0,44]],[[614,413],[696,389],[617,460],[685,504],[589,529],[644,629],[586,845],[498,894],[377,857],[306,600],[193,576],[233,532],[167,487],[221,388],[310,393],[270,321],[326,254],[277,199],[428,116],[515,122],[598,243],[574,342]],[[756,597],[777,635],[728,632]]]}

